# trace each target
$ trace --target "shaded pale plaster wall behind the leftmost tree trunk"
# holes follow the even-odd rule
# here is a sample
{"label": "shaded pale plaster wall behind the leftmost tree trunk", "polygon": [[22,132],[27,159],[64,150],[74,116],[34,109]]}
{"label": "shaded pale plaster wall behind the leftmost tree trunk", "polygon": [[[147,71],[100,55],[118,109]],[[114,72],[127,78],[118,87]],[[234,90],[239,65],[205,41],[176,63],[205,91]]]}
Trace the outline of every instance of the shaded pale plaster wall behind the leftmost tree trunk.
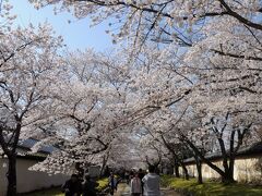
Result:
{"label": "shaded pale plaster wall behind the leftmost tree trunk", "polygon": [[[5,163],[5,168],[3,164]],[[48,175],[44,172],[29,171],[28,168],[37,163],[35,160],[17,159],[17,193],[26,193],[35,189],[61,185],[69,177],[62,174]],[[7,160],[0,158],[0,196],[7,193]]]}

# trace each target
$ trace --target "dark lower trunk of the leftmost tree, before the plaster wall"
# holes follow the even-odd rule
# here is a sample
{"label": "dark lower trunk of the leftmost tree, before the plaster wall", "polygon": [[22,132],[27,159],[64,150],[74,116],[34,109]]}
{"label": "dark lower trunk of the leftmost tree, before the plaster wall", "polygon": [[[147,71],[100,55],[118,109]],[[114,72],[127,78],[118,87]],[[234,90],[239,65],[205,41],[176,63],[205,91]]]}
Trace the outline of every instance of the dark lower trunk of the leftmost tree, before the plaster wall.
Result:
{"label": "dark lower trunk of the leftmost tree, before the plaster wall", "polygon": [[9,160],[9,171],[8,176],[8,196],[16,195],[16,155],[11,155],[8,157]]}

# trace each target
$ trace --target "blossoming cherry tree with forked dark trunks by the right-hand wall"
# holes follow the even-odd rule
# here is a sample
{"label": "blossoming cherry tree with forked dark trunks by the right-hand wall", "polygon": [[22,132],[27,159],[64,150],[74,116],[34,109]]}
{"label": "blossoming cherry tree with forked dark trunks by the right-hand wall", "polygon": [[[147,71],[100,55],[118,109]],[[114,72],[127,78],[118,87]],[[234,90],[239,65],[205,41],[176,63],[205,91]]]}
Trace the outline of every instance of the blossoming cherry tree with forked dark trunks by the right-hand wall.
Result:
{"label": "blossoming cherry tree with forked dark trunks by the right-hand wall", "polygon": [[[194,91],[195,111],[212,128],[223,155],[224,172],[228,175],[225,177],[233,181],[236,152],[261,124],[261,102],[258,101],[261,95],[258,39],[261,33],[230,17],[217,21],[217,26],[213,27],[214,23],[206,25],[206,38],[191,48],[187,62],[190,69],[198,64],[198,71],[193,71],[200,78]],[[201,56],[195,49],[201,50]]]}

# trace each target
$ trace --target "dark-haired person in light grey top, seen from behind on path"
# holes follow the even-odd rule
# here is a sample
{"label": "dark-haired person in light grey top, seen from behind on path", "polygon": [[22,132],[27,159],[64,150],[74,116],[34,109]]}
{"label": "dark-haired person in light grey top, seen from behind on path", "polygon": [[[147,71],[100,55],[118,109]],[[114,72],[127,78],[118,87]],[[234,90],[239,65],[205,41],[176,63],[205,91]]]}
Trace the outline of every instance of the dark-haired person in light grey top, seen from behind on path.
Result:
{"label": "dark-haired person in light grey top, seen from behind on path", "polygon": [[148,167],[148,173],[142,179],[144,196],[160,196],[160,177],[155,173],[155,167]]}

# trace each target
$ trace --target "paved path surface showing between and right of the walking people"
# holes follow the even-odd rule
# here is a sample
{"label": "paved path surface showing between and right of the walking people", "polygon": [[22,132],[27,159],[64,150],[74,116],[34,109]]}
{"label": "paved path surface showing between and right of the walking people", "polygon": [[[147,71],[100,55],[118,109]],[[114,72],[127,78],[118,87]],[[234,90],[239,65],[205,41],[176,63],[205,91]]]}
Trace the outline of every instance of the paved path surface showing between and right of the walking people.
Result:
{"label": "paved path surface showing between and right of the walking people", "polygon": [[[118,185],[118,191],[114,196],[130,196],[130,186],[126,183],[120,183]],[[174,189],[162,188],[162,196],[180,196]]]}

